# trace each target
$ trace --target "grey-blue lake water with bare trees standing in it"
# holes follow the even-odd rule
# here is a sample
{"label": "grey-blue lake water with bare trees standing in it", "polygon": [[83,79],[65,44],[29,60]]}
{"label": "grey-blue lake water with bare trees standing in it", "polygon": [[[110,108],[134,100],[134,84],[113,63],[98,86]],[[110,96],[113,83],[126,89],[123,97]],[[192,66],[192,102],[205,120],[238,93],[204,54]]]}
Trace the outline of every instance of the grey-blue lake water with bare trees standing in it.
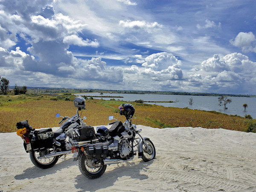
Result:
{"label": "grey-blue lake water with bare trees standing in it", "polygon": [[[100,93],[80,93],[76,95],[100,96]],[[227,110],[223,106],[219,106],[218,96],[183,96],[183,95],[155,95],[155,94],[119,94],[104,93],[103,96],[123,96],[123,98],[114,98],[126,102],[142,99],[144,101],[173,101],[174,103],[149,103],[155,105],[163,105],[165,107],[190,108],[204,111],[218,111],[232,115],[243,116],[250,114],[253,119],[256,118],[256,97],[228,97],[232,102],[227,104]],[[189,105],[189,98],[193,99],[193,105]],[[100,99],[100,98],[96,98]],[[111,98],[103,98],[110,100]],[[175,102],[178,101],[178,102]],[[243,104],[247,103],[248,107],[244,111]]]}

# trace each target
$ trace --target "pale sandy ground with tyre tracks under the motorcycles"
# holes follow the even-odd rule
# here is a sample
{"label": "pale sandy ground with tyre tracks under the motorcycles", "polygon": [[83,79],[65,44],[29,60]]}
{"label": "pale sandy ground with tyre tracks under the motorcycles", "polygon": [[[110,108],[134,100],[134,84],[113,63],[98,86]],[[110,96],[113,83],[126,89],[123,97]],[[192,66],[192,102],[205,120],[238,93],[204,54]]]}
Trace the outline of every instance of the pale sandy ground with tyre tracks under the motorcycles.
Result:
{"label": "pale sandy ground with tyre tracks under the motorcycles", "polygon": [[102,177],[81,175],[72,154],[39,169],[16,133],[0,134],[0,192],[255,192],[256,134],[224,129],[138,125],[157,151],[150,162],[107,167]]}

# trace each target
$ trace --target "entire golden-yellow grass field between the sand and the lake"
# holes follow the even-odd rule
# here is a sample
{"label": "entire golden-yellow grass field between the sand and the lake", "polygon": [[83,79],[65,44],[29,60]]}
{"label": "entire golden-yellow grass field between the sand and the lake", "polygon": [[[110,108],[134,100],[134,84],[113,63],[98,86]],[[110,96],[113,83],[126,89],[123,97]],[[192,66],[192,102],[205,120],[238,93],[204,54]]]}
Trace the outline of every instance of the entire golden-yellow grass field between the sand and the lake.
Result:
{"label": "entire golden-yellow grass field between the sand and the lake", "polygon": [[[12,99],[11,99],[12,100]],[[102,99],[88,99],[86,109],[81,117],[87,125],[107,125],[110,121],[108,116],[124,121],[120,116],[118,107],[124,102],[104,101]],[[159,105],[147,105],[132,103],[136,109],[133,123],[137,125],[151,126],[154,128],[164,127],[203,127],[203,128],[225,128],[237,131],[246,131],[247,119],[239,116],[230,116],[221,113],[210,113],[207,111],[191,110],[186,108],[167,108]],[[49,98],[28,100],[20,103],[0,103],[0,132],[16,131],[16,123],[28,120],[32,128],[58,127],[61,116],[73,116],[76,108],[73,101],[51,100]]]}

